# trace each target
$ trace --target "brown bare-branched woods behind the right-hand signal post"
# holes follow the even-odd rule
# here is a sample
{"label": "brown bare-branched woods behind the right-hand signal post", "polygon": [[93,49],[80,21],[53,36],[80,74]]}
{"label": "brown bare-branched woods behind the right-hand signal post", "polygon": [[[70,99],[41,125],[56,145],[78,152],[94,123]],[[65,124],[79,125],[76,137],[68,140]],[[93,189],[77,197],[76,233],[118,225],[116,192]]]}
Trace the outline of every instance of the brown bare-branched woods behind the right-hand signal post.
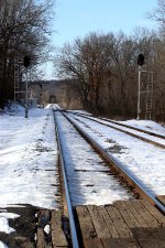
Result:
{"label": "brown bare-branched woods behind the right-hand signal post", "polygon": [[[134,29],[100,34],[91,32],[65,44],[54,60],[58,76],[75,82],[84,108],[96,114],[135,118],[138,108],[138,56],[143,54],[143,71],[153,72],[152,118],[165,121],[165,3],[150,14],[161,23],[158,31]],[[141,78],[141,118],[145,118],[147,73]]]}

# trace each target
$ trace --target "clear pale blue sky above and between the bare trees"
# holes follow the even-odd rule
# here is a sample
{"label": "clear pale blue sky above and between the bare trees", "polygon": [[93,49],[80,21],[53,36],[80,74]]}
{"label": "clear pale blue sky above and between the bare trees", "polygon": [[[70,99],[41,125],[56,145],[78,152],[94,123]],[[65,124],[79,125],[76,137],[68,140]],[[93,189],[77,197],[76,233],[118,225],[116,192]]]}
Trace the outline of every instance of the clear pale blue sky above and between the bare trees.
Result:
{"label": "clear pale blue sky above and between the bare trees", "polygon": [[[157,0],[56,0],[52,35],[55,46],[84,37],[89,32],[119,32],[131,34],[135,26],[155,29],[156,23],[146,19],[146,12],[157,7]],[[53,66],[44,69],[52,78]]]}

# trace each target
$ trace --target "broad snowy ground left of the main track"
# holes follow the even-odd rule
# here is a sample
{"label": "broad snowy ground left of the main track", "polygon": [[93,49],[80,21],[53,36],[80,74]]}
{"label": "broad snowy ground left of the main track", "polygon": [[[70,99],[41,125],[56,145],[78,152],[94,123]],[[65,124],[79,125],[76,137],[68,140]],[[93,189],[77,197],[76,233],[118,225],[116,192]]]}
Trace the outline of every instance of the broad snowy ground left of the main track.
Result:
{"label": "broad snowy ground left of the main track", "polygon": [[[0,231],[13,231],[6,207],[57,208],[57,147],[52,110],[18,107],[0,115]],[[56,185],[56,186],[55,186]],[[2,209],[3,208],[3,209]],[[0,247],[6,247],[0,242]]]}

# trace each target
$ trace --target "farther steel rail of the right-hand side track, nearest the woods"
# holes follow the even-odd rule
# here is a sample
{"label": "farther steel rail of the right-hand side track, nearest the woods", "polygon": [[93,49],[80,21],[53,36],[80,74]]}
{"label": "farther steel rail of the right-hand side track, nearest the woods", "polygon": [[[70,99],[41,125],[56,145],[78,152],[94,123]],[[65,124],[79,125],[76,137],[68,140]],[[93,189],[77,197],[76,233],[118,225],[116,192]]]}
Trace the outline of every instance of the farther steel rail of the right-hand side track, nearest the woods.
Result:
{"label": "farther steel rail of the right-hand side track, nearest the woods", "polygon": [[[73,111],[69,111],[69,110],[67,110],[67,112],[70,112],[70,114],[77,115],[77,116],[84,116],[84,117],[87,117],[87,118],[90,118],[90,119],[96,118],[96,117],[94,117],[94,116],[91,116],[91,115],[88,115],[88,114],[73,112]],[[110,122],[110,123],[114,123],[114,125],[118,125],[118,126],[121,126],[121,127],[124,127],[124,128],[130,128],[130,129],[132,129],[132,130],[140,131],[140,132],[143,132],[143,133],[146,133],[146,134],[156,137],[156,138],[161,138],[161,139],[163,139],[163,140],[165,139],[165,136],[158,134],[158,133],[156,133],[156,132],[143,130],[143,129],[135,128],[135,127],[132,127],[132,126],[129,126],[129,125],[124,125],[124,123],[119,123],[119,122],[117,122],[117,121],[114,121],[114,120],[109,120],[109,119],[107,119],[107,118],[101,118],[101,117],[97,117],[97,118],[100,119],[100,120],[105,120],[105,121],[107,121],[107,122]],[[95,120],[95,119],[92,119],[92,120]],[[97,120],[95,120],[95,121],[97,121]],[[102,123],[102,125],[105,125],[105,123]]]}

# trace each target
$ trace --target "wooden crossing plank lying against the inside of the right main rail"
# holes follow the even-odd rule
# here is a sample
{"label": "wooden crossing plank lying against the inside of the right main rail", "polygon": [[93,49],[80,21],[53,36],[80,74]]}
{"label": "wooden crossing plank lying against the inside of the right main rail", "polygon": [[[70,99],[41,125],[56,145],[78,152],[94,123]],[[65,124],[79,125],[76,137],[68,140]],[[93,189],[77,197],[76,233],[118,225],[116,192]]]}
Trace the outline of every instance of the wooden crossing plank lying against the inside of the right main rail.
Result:
{"label": "wooden crossing plank lying against the inside of the right main rail", "polygon": [[157,219],[160,226],[165,227],[165,216],[152,204],[146,201],[141,201],[141,203],[146,207],[146,209]]}

